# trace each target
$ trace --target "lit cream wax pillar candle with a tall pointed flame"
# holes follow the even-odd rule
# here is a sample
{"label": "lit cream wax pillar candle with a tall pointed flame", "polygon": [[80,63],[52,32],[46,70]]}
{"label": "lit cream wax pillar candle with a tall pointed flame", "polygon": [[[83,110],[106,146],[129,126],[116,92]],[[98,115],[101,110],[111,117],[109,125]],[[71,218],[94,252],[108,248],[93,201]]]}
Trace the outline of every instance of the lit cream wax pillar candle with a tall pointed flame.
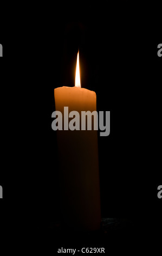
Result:
{"label": "lit cream wax pillar candle with a tall pointed flame", "polygon": [[[75,87],[54,90],[56,111],[64,120],[68,111],[96,111],[96,94],[80,87],[79,53],[77,54]],[[80,119],[81,121],[81,119]],[[63,124],[64,127],[64,124]],[[100,186],[98,133],[96,130],[57,130],[60,159],[60,195],[64,221],[74,229],[100,228]]]}

